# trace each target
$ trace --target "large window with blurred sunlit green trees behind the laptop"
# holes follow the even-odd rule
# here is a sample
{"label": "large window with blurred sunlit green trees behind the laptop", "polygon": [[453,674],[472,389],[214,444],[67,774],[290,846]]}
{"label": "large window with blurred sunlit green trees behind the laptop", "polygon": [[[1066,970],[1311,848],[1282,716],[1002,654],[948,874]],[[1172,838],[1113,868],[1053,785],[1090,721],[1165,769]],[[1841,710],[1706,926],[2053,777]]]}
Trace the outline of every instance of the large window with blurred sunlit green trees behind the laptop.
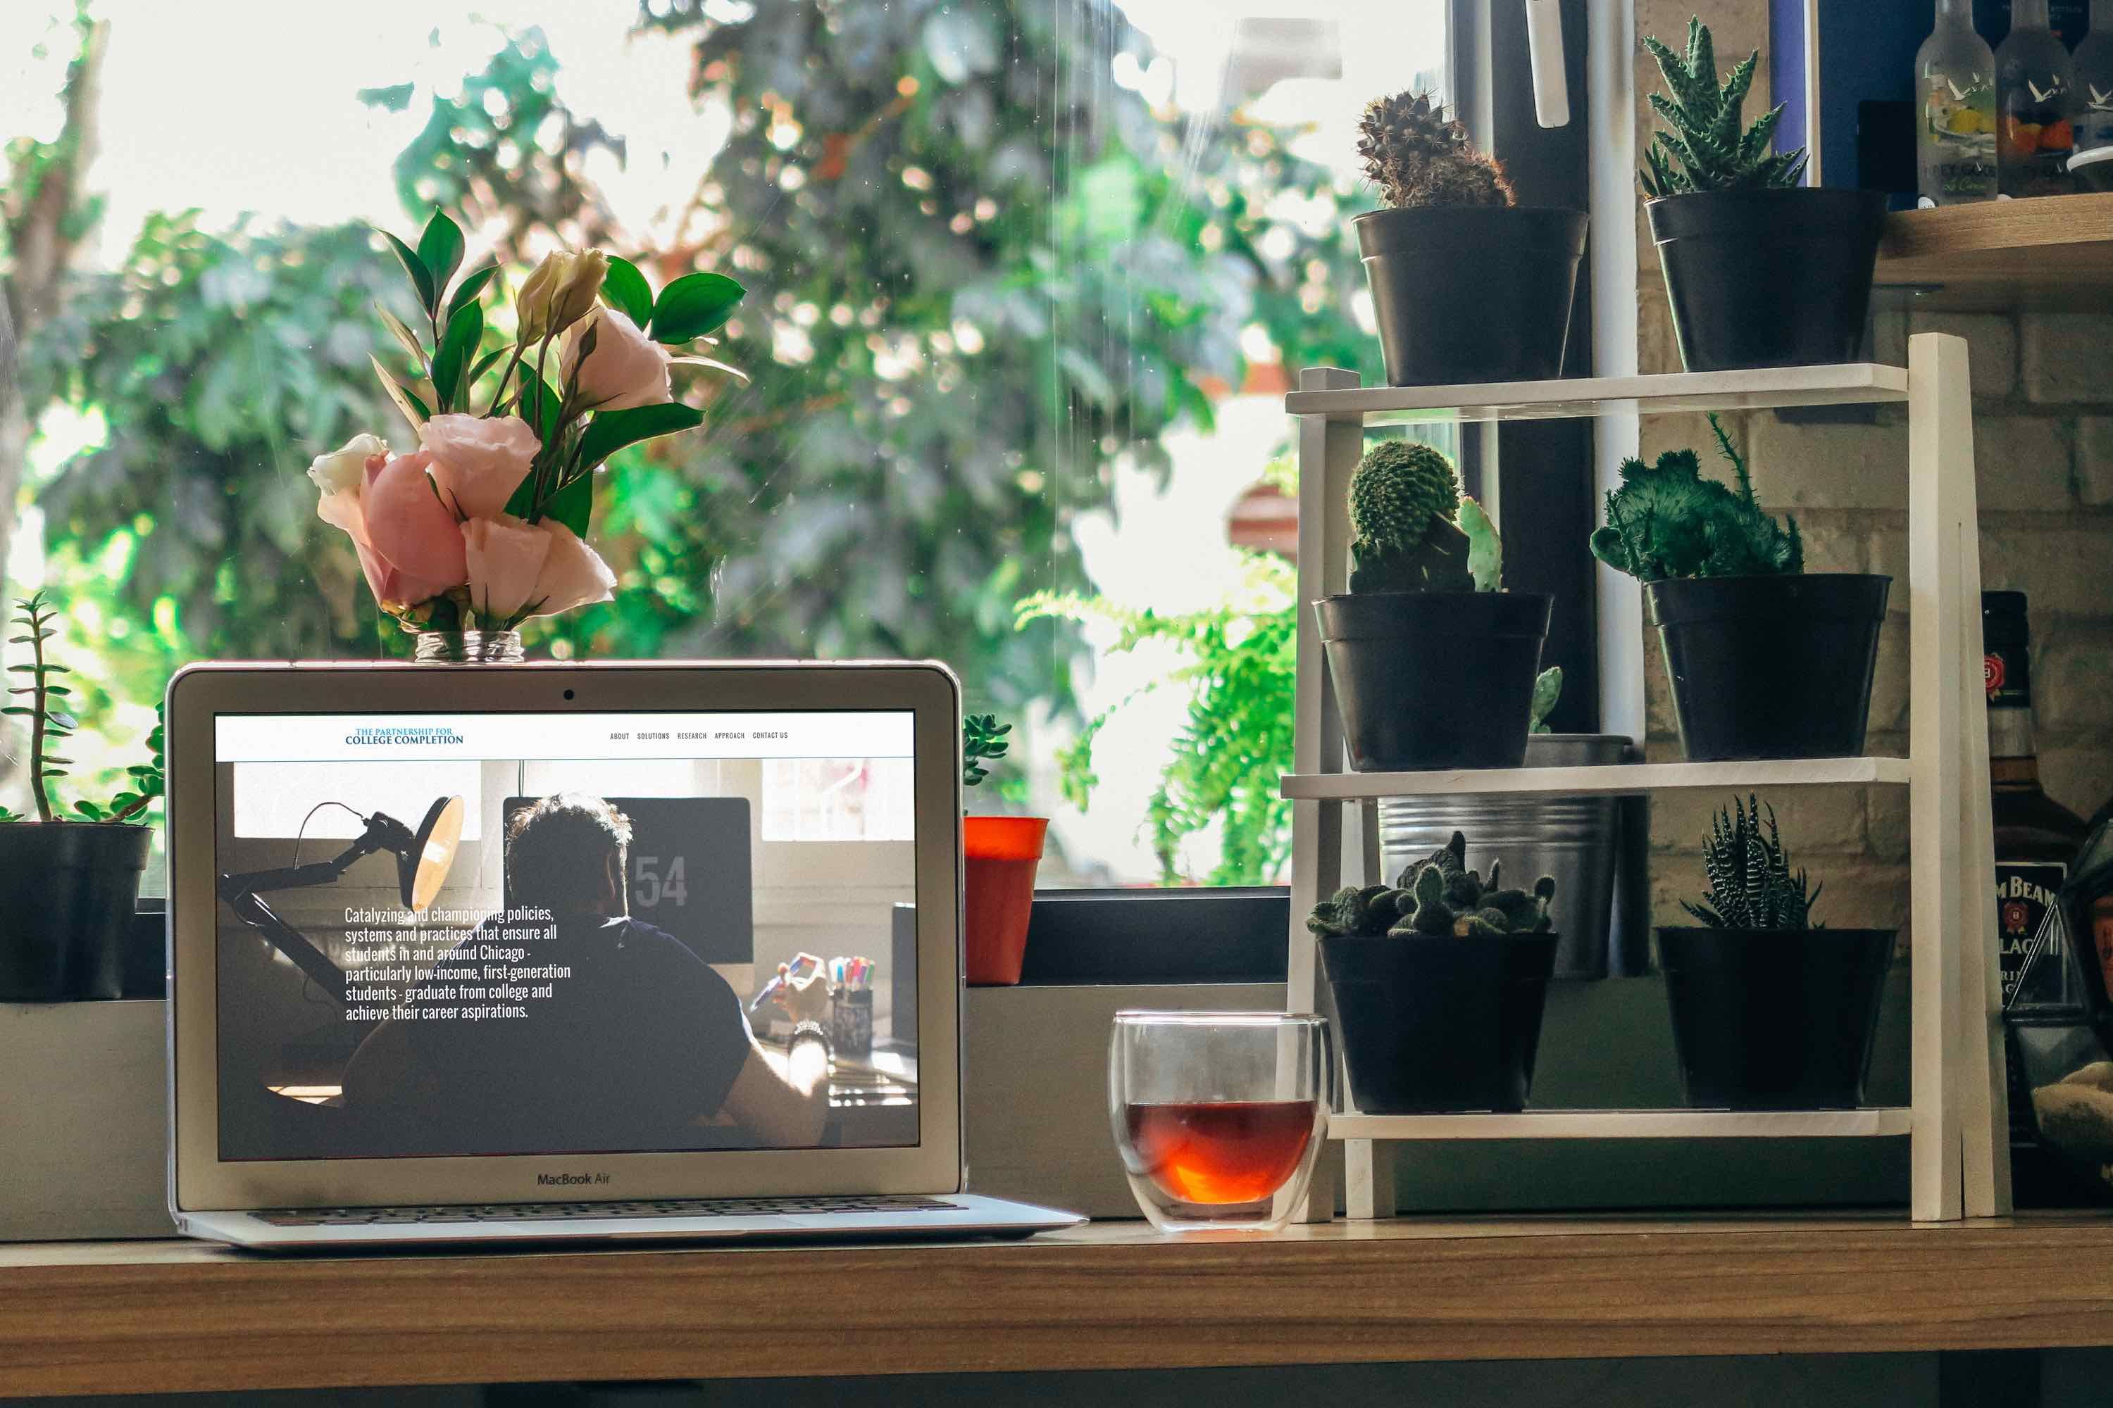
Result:
{"label": "large window with blurred sunlit green trees behind the laptop", "polygon": [[[718,355],[752,380],[678,382],[706,433],[611,460],[617,600],[530,650],[947,659],[1016,722],[989,792],[1054,819],[1046,884],[1283,878],[1278,397],[1378,374],[1352,127],[1439,82],[1450,8],[4,6],[0,564],[97,682],[78,773],[135,758],[188,659],[406,652],[302,471],[410,439],[368,222],[440,205],[516,277],[592,243],[750,289]],[[1257,735],[1230,705],[1272,690]],[[885,768],[773,777],[763,834],[892,840],[904,806]]]}

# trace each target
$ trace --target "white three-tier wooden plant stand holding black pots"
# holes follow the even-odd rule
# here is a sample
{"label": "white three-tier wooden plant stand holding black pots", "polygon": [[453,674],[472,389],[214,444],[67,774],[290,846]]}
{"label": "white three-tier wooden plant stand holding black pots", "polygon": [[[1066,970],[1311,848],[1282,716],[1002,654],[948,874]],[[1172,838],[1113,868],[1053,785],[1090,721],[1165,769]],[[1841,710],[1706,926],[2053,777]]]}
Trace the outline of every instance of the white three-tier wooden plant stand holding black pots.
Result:
{"label": "white three-tier wooden plant stand holding black pots", "polygon": [[[1310,604],[1348,583],[1348,488],[1367,424],[1654,416],[1783,405],[1908,405],[1910,610],[1908,758],[1794,762],[1654,762],[1614,768],[1350,773]],[[1306,914],[1344,884],[1346,819],[1390,796],[1460,792],[1635,794],[1673,787],[1760,789],[1900,785],[1912,825],[1912,1096],[1908,1108],[1741,1115],[1728,1110],[1526,1110],[1521,1115],[1361,1115],[1342,1110],[1352,1218],[1392,1216],[1395,1140],[1585,1138],[1878,1138],[1910,1140],[1916,1222],[2009,1212],[2009,1121],[2003,1087],[1997,954],[1990,941],[1993,834],[1980,659],[1980,538],[1974,496],[1974,403],[1967,344],[1908,340],[1908,365],[1849,363],[1769,372],[1578,378],[1479,386],[1359,386],[1350,372],[1299,374],[1285,397],[1299,418],[1299,627],[1291,798],[1289,1005],[1316,1011],[1319,944]],[[1521,492],[1515,488],[1513,492]],[[1530,492],[1526,488],[1523,492]],[[1354,872],[1378,882],[1369,825]],[[1346,1093],[1348,1100],[1348,1093]],[[1316,1210],[1331,1199],[1321,1193]],[[1316,1216],[1327,1216],[1316,1212]]]}

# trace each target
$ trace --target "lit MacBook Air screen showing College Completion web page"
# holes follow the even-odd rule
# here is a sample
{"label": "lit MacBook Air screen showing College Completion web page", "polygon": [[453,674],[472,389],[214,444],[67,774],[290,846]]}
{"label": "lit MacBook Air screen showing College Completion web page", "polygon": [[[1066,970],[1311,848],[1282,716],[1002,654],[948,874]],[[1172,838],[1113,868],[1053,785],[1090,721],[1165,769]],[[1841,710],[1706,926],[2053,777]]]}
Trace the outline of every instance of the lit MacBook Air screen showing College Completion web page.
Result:
{"label": "lit MacBook Air screen showing College Completion web page", "polygon": [[917,1144],[911,711],[213,747],[224,1161]]}

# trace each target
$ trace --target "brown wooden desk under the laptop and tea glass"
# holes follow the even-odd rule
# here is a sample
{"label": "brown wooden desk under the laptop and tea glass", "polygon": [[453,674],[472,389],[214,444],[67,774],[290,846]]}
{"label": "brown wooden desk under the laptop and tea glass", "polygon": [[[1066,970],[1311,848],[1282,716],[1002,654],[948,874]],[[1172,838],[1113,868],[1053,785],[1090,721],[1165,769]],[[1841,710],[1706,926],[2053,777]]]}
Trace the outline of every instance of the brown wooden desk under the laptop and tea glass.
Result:
{"label": "brown wooden desk under the laptop and tea glass", "polygon": [[[792,1324],[826,1326],[784,1353]],[[0,1391],[2113,1345],[2113,1218],[260,1258],[0,1245]]]}

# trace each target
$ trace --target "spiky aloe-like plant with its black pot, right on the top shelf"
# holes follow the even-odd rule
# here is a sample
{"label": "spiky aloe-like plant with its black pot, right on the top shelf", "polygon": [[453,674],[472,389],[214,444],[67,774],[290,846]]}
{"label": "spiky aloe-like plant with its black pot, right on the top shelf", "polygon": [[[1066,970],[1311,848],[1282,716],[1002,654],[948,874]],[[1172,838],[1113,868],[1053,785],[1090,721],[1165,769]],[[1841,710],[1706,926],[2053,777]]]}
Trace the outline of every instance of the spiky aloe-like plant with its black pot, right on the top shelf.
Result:
{"label": "spiky aloe-like plant with its black pot, right on the top shelf", "polygon": [[1800,186],[1805,150],[1775,152],[1777,106],[1745,127],[1760,53],[1718,80],[1716,46],[1688,21],[1686,53],[1654,38],[1665,120],[1640,173],[1688,372],[1855,361],[1885,226],[1885,192]]}

